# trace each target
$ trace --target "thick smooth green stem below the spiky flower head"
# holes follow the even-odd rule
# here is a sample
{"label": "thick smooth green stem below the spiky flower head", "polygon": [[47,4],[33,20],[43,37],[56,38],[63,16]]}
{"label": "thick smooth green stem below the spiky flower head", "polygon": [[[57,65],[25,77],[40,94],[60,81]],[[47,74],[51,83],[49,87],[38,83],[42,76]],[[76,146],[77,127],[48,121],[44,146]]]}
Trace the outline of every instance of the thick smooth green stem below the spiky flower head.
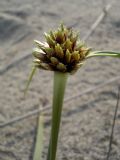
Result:
{"label": "thick smooth green stem below the spiky flower head", "polygon": [[60,73],[60,72],[54,73],[52,128],[51,128],[51,137],[50,137],[47,160],[56,159],[57,142],[58,142],[61,113],[62,113],[67,77],[68,74],[66,73]]}

